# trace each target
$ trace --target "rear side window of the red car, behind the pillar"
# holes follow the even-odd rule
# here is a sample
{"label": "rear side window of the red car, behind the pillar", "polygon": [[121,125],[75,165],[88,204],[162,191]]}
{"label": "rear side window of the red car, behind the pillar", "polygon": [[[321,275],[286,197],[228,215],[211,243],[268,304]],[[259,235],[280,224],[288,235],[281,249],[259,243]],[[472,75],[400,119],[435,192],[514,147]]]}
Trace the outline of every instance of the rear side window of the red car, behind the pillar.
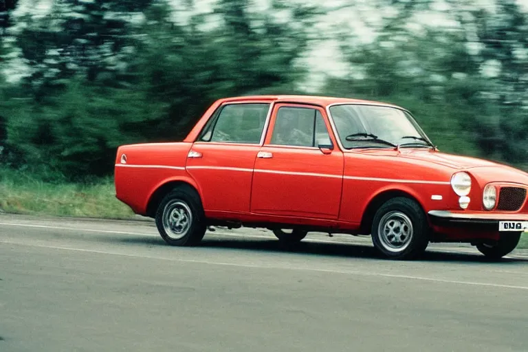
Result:
{"label": "rear side window of the red car, behind the pillar", "polygon": [[198,140],[259,144],[269,109],[267,103],[227,104],[210,120]]}

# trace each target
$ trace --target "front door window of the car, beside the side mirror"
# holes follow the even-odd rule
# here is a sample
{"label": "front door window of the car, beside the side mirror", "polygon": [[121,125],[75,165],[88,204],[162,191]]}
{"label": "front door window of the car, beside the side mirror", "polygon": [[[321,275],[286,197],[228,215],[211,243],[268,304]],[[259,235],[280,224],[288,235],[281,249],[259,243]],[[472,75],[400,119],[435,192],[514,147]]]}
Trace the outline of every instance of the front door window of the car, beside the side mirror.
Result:
{"label": "front door window of the car, beside the side mirror", "polygon": [[285,146],[318,146],[331,144],[325,120],[317,109],[280,107],[270,144]]}

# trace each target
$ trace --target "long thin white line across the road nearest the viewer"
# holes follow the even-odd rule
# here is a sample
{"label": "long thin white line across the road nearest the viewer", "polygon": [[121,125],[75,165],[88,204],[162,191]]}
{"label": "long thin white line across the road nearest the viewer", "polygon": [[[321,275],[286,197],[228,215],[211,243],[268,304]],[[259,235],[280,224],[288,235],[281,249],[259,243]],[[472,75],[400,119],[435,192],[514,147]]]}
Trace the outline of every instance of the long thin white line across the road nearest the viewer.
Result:
{"label": "long thin white line across the road nearest the viewer", "polygon": [[316,267],[292,267],[292,266],[279,266],[279,265],[255,265],[255,264],[237,264],[237,263],[227,263],[221,261],[199,261],[195,259],[176,259],[176,258],[162,258],[159,256],[146,256],[139,254],[127,254],[120,252],[111,252],[104,250],[87,250],[82,248],[72,248],[72,247],[62,247],[56,245],[36,245],[30,243],[19,243],[15,241],[0,241],[0,243],[9,244],[9,245],[21,245],[28,247],[36,248],[49,248],[53,250],[68,250],[74,252],[85,252],[85,253],[96,253],[96,254],[108,254],[116,256],[126,256],[130,258],[141,258],[141,259],[155,259],[159,261],[175,261],[178,263],[196,263],[196,264],[205,264],[205,265],[222,265],[230,267],[250,267],[255,269],[278,269],[278,270],[297,270],[303,272],[326,272],[332,274],[347,274],[347,275],[356,275],[356,276],[377,276],[384,278],[403,278],[408,280],[419,280],[419,281],[430,281],[434,283],[450,283],[455,285],[471,285],[471,286],[483,286],[483,287],[496,287],[504,289],[522,289],[528,290],[527,286],[517,286],[517,285],[501,285],[496,283],[479,283],[476,281],[458,281],[458,280],[447,280],[443,278],[428,278],[424,276],[412,276],[412,275],[397,275],[397,274],[382,274],[377,272],[358,272],[354,270],[332,270],[332,269],[321,269]]}

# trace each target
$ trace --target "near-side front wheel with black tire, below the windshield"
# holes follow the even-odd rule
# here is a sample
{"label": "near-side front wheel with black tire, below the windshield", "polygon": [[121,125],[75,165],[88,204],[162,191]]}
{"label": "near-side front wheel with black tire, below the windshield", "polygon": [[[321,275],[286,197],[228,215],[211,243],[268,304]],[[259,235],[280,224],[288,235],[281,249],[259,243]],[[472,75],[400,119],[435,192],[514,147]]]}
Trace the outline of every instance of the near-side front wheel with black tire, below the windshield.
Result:
{"label": "near-side front wheel with black tire, below the windshield", "polygon": [[423,209],[405,197],[389,199],[380,206],[372,223],[372,242],[386,259],[416,259],[425,252],[430,227]]}

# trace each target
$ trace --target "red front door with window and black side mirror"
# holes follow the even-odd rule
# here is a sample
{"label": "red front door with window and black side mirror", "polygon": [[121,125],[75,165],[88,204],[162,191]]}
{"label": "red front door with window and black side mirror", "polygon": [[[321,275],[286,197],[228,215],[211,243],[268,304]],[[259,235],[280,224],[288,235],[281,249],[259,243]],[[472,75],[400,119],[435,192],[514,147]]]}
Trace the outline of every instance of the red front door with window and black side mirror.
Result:
{"label": "red front door with window and black side mirror", "polygon": [[276,104],[271,124],[272,129],[256,157],[251,211],[337,219],[343,153],[334,148],[336,142],[329,134],[325,110],[301,104]]}

